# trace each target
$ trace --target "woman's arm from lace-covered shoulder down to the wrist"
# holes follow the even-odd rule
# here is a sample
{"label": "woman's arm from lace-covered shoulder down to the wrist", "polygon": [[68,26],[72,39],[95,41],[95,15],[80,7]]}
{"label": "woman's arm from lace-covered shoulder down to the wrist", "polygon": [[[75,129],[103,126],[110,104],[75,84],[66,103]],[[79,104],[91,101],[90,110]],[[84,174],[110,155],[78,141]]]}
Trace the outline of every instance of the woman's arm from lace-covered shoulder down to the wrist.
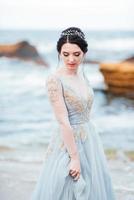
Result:
{"label": "woman's arm from lace-covered shoulder down to the wrist", "polygon": [[54,75],[50,75],[46,80],[46,89],[69,156],[71,158],[78,157],[73,128],[69,122],[68,111],[64,102],[60,80]]}

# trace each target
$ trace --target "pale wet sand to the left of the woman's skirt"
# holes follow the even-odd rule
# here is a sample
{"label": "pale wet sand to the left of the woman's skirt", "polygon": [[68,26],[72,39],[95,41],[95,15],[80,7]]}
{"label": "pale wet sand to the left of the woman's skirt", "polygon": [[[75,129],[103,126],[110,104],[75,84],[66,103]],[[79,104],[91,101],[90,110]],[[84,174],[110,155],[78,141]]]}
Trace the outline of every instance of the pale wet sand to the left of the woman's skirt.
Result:
{"label": "pale wet sand to the left of the woman's skirt", "polygon": [[0,162],[0,199],[30,200],[41,163]]}

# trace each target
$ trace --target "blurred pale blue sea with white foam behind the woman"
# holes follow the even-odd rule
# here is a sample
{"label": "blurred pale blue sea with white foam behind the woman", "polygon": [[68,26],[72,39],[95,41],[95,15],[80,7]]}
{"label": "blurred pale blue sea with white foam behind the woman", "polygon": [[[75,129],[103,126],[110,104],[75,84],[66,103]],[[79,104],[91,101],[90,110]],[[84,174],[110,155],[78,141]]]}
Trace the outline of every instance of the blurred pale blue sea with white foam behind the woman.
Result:
{"label": "blurred pale blue sea with white foam behind the woman", "polygon": [[[59,34],[56,30],[0,31],[0,44],[28,41],[50,65],[46,69],[32,62],[0,58],[0,149],[10,151],[1,153],[0,160],[40,162],[44,157],[56,126],[45,80],[58,67]],[[85,34],[90,60],[119,62],[134,55],[134,31],[85,31]],[[106,94],[98,64],[83,67],[95,92],[92,118],[104,148],[134,150],[134,100]]]}

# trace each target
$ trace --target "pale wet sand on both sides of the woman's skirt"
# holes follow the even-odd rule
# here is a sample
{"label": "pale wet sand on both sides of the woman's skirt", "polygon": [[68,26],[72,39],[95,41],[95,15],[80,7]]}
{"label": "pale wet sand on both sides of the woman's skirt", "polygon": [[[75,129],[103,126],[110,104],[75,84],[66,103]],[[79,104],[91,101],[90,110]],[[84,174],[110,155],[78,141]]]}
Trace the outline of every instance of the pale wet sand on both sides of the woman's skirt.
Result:
{"label": "pale wet sand on both sides of the woman's skirt", "polygon": [[[114,156],[113,156],[114,155]],[[117,200],[134,199],[134,162],[123,157],[120,152],[115,157],[107,151],[108,165]],[[30,200],[43,162],[0,161],[0,199]]]}

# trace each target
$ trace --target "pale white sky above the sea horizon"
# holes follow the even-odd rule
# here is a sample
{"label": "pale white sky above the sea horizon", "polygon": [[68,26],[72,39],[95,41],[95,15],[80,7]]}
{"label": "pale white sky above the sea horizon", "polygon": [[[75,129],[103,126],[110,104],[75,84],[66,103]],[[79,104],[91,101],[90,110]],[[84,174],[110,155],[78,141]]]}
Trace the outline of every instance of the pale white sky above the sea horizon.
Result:
{"label": "pale white sky above the sea horizon", "polygon": [[0,0],[0,29],[134,30],[133,0]]}

